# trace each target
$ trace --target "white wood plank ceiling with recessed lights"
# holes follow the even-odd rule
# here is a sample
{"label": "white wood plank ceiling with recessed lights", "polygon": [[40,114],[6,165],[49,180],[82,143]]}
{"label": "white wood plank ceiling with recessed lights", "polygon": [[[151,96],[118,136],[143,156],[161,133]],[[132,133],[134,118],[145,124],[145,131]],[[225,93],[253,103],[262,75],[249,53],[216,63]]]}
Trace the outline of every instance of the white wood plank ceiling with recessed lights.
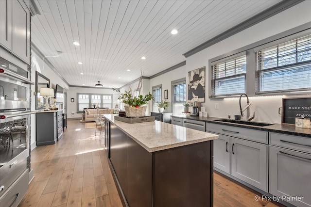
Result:
{"label": "white wood plank ceiling with recessed lights", "polygon": [[185,61],[183,53],[279,1],[37,0],[32,42],[69,85],[119,88],[141,70],[149,77]]}

